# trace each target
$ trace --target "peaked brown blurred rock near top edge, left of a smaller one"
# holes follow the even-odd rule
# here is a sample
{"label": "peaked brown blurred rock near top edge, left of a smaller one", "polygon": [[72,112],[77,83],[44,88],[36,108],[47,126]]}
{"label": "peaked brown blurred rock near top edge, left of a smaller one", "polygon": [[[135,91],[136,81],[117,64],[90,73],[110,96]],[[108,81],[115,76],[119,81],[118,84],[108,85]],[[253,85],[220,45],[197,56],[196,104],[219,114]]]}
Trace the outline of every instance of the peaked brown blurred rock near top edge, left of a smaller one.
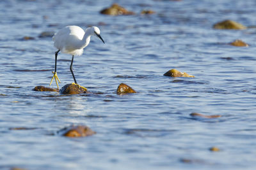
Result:
{"label": "peaked brown blurred rock near top edge, left of a smaller one", "polygon": [[134,15],[135,13],[132,11],[125,10],[124,7],[119,6],[118,4],[114,3],[109,8],[105,8],[100,11],[100,13],[104,15]]}

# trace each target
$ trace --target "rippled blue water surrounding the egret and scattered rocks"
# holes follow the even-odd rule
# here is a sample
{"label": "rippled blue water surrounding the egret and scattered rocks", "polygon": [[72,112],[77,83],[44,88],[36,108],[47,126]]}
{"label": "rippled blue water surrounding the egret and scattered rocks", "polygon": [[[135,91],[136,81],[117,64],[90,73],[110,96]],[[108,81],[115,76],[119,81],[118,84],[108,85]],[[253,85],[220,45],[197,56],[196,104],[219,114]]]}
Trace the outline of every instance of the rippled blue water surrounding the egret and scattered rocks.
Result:
{"label": "rippled blue water surrounding the egret and scattered rocks", "polygon": [[[117,2],[137,14],[101,15],[111,2],[99,0],[0,1],[1,169],[255,168],[256,30],[212,25],[225,19],[255,25],[256,2]],[[156,13],[140,15],[148,9]],[[94,94],[32,90],[48,86],[54,70],[56,49],[39,34],[65,25],[100,27],[106,44],[93,37],[73,66],[77,82]],[[228,45],[235,39],[250,46]],[[71,56],[58,59],[62,87],[73,81]],[[163,76],[173,68],[195,78]],[[120,83],[138,93],[116,95]],[[97,134],[58,135],[72,124]],[[221,151],[210,152],[212,146]]]}

